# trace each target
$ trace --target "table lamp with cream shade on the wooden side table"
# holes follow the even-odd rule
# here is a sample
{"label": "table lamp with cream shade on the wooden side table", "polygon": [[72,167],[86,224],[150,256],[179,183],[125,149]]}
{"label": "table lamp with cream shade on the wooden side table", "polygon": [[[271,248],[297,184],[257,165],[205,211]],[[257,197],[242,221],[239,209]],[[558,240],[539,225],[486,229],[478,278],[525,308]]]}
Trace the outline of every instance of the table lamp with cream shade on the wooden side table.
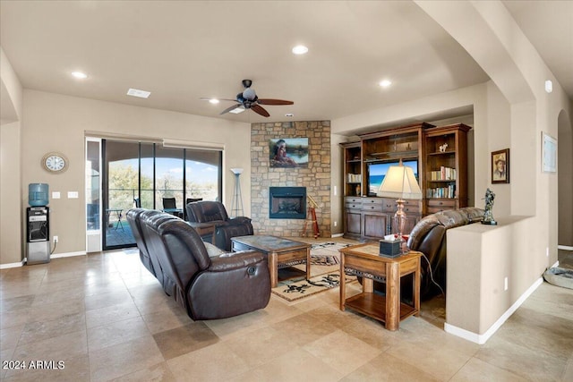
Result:
{"label": "table lamp with cream shade on the wooden side table", "polygon": [[401,160],[398,166],[390,166],[377,195],[398,199],[396,200],[398,210],[394,215],[394,219],[398,227],[398,238],[401,241],[404,226],[406,225],[404,199],[422,199],[422,190],[420,190],[420,186],[415,180],[414,170],[411,167],[404,166]]}

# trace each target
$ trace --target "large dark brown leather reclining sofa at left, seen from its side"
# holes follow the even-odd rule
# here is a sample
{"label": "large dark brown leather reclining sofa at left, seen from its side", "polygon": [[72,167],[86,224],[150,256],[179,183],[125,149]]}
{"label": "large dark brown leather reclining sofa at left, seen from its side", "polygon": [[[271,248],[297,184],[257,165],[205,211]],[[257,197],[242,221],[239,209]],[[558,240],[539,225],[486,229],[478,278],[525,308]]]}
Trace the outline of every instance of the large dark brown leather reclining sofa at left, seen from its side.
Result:
{"label": "large dark brown leather reclining sofa at left, seen from its side", "polygon": [[190,318],[228,318],[269,303],[269,264],[261,252],[218,250],[210,256],[208,244],[178,217],[142,208],[127,216],[134,232],[140,227],[134,236],[144,266]]}

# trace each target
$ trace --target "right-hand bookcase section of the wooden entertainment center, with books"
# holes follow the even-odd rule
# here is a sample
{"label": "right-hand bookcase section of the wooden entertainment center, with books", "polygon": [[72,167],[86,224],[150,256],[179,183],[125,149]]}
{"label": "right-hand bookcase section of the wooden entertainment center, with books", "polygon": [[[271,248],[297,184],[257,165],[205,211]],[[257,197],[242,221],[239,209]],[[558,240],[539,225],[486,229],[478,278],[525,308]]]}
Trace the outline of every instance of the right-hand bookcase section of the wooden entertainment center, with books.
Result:
{"label": "right-hand bookcase section of the wooden entertainment center, with books", "polygon": [[424,132],[425,215],[467,207],[467,132],[470,129],[456,123]]}

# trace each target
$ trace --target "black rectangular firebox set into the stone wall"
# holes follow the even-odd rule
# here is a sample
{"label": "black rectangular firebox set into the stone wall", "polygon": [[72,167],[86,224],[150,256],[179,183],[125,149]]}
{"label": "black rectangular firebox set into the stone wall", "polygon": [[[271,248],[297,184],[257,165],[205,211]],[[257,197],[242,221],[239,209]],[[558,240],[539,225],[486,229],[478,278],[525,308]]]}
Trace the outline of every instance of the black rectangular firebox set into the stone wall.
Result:
{"label": "black rectangular firebox set into the stone wall", "polygon": [[271,219],[305,219],[306,187],[269,187]]}

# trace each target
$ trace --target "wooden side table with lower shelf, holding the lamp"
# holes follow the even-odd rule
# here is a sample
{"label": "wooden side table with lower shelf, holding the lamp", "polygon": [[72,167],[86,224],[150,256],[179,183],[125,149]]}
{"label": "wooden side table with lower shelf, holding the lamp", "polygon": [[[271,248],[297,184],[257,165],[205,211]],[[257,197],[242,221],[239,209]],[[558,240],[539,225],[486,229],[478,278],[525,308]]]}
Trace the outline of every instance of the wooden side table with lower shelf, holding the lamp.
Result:
{"label": "wooden side table with lower shelf, holding the lamp", "polygon": [[[398,258],[380,256],[380,246],[360,244],[340,251],[340,310],[350,308],[398,330],[399,322],[420,313],[420,259],[422,253],[409,251]],[[346,299],[344,274],[363,277],[363,292]],[[414,273],[413,305],[400,302],[400,278]],[[386,296],[373,292],[373,282],[386,283]]]}

